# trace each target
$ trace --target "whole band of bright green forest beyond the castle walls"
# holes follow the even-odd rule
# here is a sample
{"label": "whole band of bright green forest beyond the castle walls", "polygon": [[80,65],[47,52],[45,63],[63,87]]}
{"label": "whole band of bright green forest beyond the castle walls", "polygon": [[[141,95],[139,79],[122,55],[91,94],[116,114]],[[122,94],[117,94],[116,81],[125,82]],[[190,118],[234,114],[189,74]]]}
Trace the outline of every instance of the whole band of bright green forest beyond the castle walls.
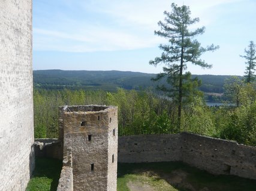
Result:
{"label": "whole band of bright green forest beyond the castle walls", "polygon": [[256,146],[256,88],[254,84],[237,86],[239,82],[236,77],[227,81],[224,94],[228,101],[222,106],[209,107],[203,97],[194,97],[182,109],[180,128],[175,101],[159,96],[153,88],[118,88],[114,92],[34,90],[35,138],[58,138],[59,106],[106,104],[118,106],[119,135],[186,131]]}

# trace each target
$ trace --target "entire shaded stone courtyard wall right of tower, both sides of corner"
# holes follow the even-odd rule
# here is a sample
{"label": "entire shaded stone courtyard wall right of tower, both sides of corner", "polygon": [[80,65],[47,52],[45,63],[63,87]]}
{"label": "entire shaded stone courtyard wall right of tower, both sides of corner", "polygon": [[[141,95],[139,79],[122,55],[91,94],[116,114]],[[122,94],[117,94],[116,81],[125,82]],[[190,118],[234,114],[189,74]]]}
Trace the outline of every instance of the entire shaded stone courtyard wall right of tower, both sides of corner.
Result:
{"label": "entire shaded stone courtyard wall right of tower, both sides of corner", "polygon": [[256,147],[182,133],[119,137],[118,162],[182,161],[213,174],[256,180]]}

